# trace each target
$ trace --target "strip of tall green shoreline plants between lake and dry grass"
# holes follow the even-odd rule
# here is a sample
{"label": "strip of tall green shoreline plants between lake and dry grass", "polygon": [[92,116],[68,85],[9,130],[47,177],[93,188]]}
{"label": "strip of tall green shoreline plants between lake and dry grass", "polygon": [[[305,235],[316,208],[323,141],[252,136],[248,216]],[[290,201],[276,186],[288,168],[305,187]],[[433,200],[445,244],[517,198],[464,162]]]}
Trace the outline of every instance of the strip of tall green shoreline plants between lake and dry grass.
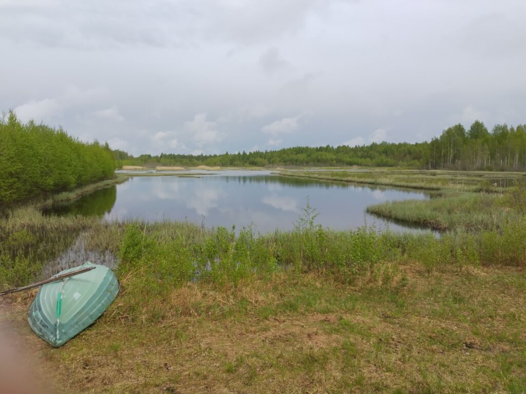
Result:
{"label": "strip of tall green shoreline plants between lake and dry grass", "polygon": [[[315,216],[307,205],[294,231],[258,236],[251,229],[236,235],[223,227],[206,230],[190,223],[100,222],[96,217],[44,216],[36,206],[16,209],[0,219],[4,259],[0,282],[8,286],[31,281],[33,271],[26,275],[24,267],[42,266],[81,231],[88,234],[88,250],[118,255],[119,272],[132,274],[137,281],[133,287],[144,292],[196,279],[237,288],[254,277],[290,269],[325,272],[352,283],[375,275],[383,263],[408,258],[430,271],[441,264],[523,266],[526,262],[524,216],[511,216],[488,229],[480,226],[478,232],[459,226],[440,239],[365,227],[331,231],[315,224]],[[16,283],[10,279],[13,270]]]}

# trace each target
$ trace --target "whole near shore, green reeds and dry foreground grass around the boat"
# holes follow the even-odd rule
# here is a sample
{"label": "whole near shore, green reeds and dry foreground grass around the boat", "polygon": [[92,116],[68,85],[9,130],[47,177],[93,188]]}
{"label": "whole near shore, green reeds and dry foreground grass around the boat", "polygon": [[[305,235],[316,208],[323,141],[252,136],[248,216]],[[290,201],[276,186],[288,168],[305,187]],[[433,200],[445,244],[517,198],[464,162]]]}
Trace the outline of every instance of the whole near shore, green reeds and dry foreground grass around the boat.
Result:
{"label": "whole near shore, green reeds and dry foreground grass around the boat", "polygon": [[27,326],[35,292],[0,300],[0,323],[60,392],[524,392],[526,199],[506,190],[407,202],[454,230],[440,239],[323,229],[309,205],[294,230],[260,236],[21,207],[0,219],[1,286],[82,233],[118,256],[121,288],[58,349]]}

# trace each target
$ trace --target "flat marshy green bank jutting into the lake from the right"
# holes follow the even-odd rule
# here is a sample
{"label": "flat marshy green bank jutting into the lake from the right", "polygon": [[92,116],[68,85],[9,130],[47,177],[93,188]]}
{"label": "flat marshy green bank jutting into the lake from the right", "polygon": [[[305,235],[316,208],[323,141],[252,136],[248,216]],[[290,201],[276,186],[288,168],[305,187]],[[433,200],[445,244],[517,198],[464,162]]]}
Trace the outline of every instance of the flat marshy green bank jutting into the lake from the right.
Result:
{"label": "flat marshy green bank jutting into the lake from the right", "polygon": [[432,191],[430,200],[368,206],[367,212],[440,231],[500,230],[522,225],[526,215],[524,173],[421,170],[280,172],[280,175]]}

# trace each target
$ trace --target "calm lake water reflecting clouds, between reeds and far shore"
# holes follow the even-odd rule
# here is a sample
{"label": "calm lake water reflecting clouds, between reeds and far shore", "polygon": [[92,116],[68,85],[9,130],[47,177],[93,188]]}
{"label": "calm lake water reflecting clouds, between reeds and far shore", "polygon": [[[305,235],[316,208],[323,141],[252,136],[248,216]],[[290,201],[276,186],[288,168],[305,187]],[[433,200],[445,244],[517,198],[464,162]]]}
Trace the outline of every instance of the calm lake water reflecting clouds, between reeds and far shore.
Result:
{"label": "calm lake water reflecting clouds, between reeds and far shore", "polygon": [[[180,172],[178,172],[180,173]],[[195,172],[194,172],[195,173]],[[393,231],[423,231],[365,212],[385,201],[427,199],[423,192],[271,175],[269,171],[206,172],[200,178],[131,177],[86,195],[54,213],[99,215],[104,220],[188,220],[206,226],[253,225],[257,232],[291,230],[307,204],[317,223],[334,230],[376,224]]]}

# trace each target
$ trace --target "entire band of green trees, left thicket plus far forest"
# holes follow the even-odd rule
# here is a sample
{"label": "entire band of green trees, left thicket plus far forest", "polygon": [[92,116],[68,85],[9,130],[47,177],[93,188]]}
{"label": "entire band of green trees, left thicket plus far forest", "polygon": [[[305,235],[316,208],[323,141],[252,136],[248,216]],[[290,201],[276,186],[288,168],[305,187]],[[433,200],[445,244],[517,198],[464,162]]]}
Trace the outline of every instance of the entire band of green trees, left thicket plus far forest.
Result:
{"label": "entire band of green trees, left thicket plus far forest", "polygon": [[108,143],[84,143],[34,121],[22,123],[14,111],[0,117],[0,203],[71,190],[112,178],[122,165],[194,167],[407,167],[526,171],[526,125],[495,125],[491,132],[475,121],[457,124],[430,142],[371,143],[368,146],[293,147],[274,151],[210,155],[162,153],[133,157]]}

